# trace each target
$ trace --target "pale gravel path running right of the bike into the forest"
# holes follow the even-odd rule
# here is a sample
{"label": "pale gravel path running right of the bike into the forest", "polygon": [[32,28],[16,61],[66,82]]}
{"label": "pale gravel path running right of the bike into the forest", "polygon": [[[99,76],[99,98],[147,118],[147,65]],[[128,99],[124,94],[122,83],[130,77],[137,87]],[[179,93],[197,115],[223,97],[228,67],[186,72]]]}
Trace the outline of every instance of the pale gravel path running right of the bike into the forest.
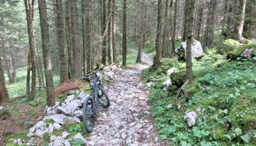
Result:
{"label": "pale gravel path running right of the bike into the forest", "polygon": [[87,145],[169,145],[158,138],[152,123],[143,89],[141,70],[152,65],[152,59],[143,55],[143,62],[129,69],[117,69],[115,79],[105,87],[110,99],[107,110],[102,109],[94,131],[87,137]]}

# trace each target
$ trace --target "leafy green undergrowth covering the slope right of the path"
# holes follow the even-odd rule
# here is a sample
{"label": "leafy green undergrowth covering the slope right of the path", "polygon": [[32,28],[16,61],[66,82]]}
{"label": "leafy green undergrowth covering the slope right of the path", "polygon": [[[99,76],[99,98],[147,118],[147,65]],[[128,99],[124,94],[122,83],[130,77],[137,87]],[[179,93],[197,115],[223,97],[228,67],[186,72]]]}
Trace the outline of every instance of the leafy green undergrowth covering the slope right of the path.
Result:
{"label": "leafy green undergrowth covering the slope right of the path", "polygon": [[[256,144],[256,64],[255,61],[228,62],[225,56],[208,50],[200,61],[193,60],[192,84],[187,97],[176,100],[176,91],[162,90],[169,77],[166,71],[185,70],[184,62],[164,59],[157,69],[143,71],[144,82],[157,82],[151,88],[150,102],[154,124],[161,139],[171,145],[255,145]],[[196,125],[187,128],[184,113],[197,113]]]}

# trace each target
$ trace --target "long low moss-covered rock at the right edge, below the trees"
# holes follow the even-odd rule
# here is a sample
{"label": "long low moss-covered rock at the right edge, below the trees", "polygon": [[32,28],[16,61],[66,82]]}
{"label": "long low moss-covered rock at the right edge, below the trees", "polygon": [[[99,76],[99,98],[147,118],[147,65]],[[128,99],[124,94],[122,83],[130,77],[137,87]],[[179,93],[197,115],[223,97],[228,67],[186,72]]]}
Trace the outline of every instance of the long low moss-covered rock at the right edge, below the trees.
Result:
{"label": "long low moss-covered rock at the right edge, below the trees", "polygon": [[229,54],[227,55],[227,59],[236,60],[237,57],[239,57],[245,51],[246,48],[252,48],[254,52],[256,52],[256,44],[242,45],[240,47],[237,47],[233,51],[230,51]]}

